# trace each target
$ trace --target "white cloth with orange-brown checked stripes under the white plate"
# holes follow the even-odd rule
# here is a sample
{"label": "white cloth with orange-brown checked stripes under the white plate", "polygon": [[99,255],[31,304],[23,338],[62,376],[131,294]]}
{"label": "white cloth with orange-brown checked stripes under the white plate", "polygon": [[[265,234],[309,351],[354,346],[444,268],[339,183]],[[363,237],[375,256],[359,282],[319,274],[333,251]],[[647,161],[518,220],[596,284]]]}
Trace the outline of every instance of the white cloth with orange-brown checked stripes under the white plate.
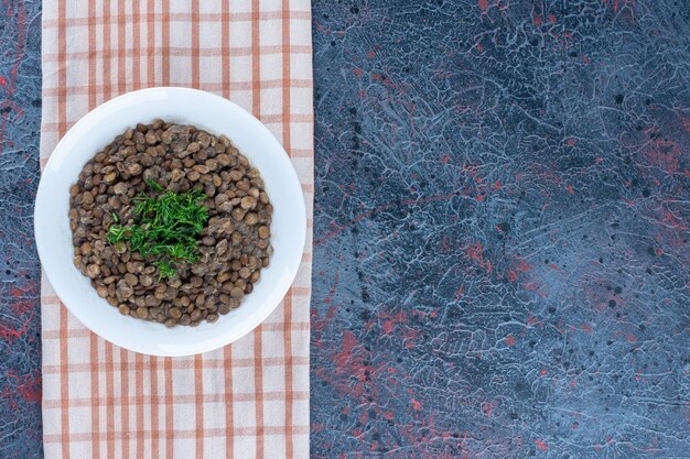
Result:
{"label": "white cloth with orange-brown checked stripes under the white plate", "polygon": [[152,86],[217,92],[269,127],[302,182],[308,250],[265,325],[191,358],[136,354],[104,341],[43,277],[45,457],[306,458],[314,192],[309,0],[44,0],[42,165],[88,110]]}

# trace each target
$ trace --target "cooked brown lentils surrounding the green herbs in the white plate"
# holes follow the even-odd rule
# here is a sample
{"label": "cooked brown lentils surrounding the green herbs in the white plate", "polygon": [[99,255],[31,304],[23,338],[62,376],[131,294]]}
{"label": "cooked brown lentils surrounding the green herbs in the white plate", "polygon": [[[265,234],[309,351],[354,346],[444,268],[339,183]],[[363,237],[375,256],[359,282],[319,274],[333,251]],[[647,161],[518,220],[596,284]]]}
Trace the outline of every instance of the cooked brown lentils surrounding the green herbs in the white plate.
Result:
{"label": "cooked brown lentils surrounding the green herbs in the white plate", "polygon": [[[151,193],[150,179],[206,196],[200,260],[177,265],[172,280],[159,280],[153,260],[129,242],[106,237],[116,218],[134,223],[134,197]],[[69,196],[74,264],[123,315],[169,327],[215,323],[239,306],[269,264],[273,208],[259,171],[224,135],[162,120],[138,124],[86,163]]]}

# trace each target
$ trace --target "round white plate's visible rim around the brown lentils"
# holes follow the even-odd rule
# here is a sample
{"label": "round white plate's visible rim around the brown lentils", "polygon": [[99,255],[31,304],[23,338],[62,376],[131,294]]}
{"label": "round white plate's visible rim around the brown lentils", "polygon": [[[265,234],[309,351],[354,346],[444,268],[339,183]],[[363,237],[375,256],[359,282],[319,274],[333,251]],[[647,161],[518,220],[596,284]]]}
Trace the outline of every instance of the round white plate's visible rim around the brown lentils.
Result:
{"label": "round white plate's visible rim around the brown lentils", "polygon": [[[69,186],[116,135],[138,122],[193,124],[225,134],[261,172],[271,204],[271,263],[241,305],[217,323],[166,328],[122,316],[100,298],[73,264]],[[288,154],[250,113],[222,97],[187,88],[151,88],[112,99],[82,118],[60,141],[41,177],[34,214],[39,255],[45,274],[67,309],[98,336],[152,356],[191,356],[228,345],[263,321],[294,280],[306,233],[304,196]]]}

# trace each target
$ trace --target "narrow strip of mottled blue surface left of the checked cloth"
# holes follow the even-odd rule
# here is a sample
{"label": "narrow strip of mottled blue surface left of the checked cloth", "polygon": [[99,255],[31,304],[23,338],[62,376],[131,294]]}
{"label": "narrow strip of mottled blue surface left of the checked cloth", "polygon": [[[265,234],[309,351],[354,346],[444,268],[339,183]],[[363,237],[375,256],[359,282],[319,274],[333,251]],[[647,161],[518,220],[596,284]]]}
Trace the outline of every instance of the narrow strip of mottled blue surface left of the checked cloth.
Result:
{"label": "narrow strip of mottled blue surface left of the checked cloth", "polygon": [[0,458],[41,458],[41,3],[0,4]]}

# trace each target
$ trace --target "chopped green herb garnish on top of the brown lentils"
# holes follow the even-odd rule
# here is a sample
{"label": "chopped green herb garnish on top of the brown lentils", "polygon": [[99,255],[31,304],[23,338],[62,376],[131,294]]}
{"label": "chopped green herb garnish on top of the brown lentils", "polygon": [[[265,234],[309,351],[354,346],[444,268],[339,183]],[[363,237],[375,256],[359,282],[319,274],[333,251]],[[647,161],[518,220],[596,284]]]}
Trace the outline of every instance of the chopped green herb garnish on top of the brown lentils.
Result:
{"label": "chopped green herb garnish on top of the brown lentils", "polygon": [[[157,192],[163,187],[149,179]],[[208,220],[208,209],[198,204],[205,195],[197,189],[175,194],[165,192],[158,197],[141,193],[134,198],[134,223],[125,227],[114,214],[115,225],[108,230],[108,241],[129,241],[133,252],[153,259],[159,277],[173,278],[181,263],[194,263],[200,258],[197,238]]]}

